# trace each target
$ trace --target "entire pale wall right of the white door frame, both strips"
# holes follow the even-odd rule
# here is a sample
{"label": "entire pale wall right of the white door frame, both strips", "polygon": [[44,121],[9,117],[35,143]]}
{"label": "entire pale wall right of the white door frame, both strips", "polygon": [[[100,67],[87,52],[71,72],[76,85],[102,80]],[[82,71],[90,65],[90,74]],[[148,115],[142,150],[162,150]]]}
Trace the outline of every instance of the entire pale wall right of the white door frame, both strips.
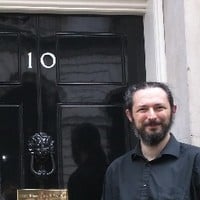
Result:
{"label": "entire pale wall right of the white door frame, both strips", "polygon": [[178,105],[173,130],[200,146],[200,1],[163,1],[167,80]]}

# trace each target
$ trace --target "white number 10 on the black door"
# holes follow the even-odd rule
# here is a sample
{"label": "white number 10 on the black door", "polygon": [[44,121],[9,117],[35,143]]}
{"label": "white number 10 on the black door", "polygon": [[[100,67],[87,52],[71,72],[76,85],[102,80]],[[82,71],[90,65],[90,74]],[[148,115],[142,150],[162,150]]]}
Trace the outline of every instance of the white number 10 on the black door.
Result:
{"label": "white number 10 on the black door", "polygon": [[[52,64],[50,65],[47,65],[44,61],[44,58],[45,57],[50,57],[52,59]],[[55,66],[56,64],[56,57],[53,53],[50,53],[50,52],[46,52],[46,53],[43,53],[41,56],[40,56],[40,64],[44,67],[44,68],[47,68],[47,69],[50,69],[52,67]],[[32,66],[32,52],[29,52],[28,53],[28,68],[31,69],[33,68]]]}

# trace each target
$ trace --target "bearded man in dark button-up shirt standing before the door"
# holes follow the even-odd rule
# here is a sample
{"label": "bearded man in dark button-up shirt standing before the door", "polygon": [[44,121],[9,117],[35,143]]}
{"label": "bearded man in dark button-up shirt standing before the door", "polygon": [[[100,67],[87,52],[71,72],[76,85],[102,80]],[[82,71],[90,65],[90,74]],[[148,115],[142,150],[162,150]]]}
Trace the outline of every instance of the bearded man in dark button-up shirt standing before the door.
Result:
{"label": "bearded man in dark button-up shirt standing before the door", "polygon": [[130,86],[125,101],[139,142],[107,169],[102,199],[200,200],[200,148],[169,132],[176,106],[168,86]]}

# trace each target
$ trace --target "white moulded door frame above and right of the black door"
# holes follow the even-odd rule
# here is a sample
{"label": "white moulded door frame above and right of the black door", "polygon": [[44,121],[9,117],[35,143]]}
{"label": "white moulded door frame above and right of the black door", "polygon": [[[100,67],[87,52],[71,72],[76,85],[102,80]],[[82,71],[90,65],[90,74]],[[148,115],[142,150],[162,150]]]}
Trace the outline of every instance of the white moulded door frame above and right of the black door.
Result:
{"label": "white moulded door frame above and right of the black door", "polygon": [[0,13],[142,15],[146,80],[167,81],[162,0],[1,0]]}

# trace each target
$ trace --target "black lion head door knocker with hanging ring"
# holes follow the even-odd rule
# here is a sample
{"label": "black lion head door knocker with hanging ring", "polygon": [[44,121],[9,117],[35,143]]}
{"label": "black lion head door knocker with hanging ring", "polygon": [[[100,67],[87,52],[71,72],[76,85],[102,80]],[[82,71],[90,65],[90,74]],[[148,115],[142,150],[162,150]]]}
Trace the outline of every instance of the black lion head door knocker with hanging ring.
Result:
{"label": "black lion head door knocker with hanging ring", "polygon": [[[28,142],[30,169],[37,176],[49,176],[55,170],[54,141],[45,132],[35,133]],[[50,165],[50,166],[49,166]]]}

